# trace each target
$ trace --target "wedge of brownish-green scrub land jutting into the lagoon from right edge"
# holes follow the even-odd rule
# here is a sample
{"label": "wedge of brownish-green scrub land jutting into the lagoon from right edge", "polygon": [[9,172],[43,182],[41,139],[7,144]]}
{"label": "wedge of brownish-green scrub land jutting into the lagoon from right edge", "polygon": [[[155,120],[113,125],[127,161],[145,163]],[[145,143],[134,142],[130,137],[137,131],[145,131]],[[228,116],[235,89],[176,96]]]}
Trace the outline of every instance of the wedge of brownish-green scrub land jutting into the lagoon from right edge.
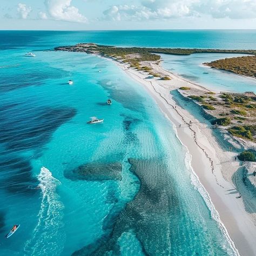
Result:
{"label": "wedge of brownish-green scrub land jutting into the lagoon from right edge", "polygon": [[248,77],[256,78],[256,56],[243,56],[235,58],[218,59],[214,62],[204,63],[215,69],[225,70]]}

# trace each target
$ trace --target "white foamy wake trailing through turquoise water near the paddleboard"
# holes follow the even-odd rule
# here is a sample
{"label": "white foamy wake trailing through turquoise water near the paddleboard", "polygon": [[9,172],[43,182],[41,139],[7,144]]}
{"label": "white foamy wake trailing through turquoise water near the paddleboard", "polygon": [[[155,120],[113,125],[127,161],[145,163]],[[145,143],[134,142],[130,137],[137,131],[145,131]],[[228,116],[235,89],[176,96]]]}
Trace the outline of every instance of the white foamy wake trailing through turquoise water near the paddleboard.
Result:
{"label": "white foamy wake trailing through turquoise water near the paddleboard", "polygon": [[56,192],[61,183],[45,167],[41,168],[37,179],[42,190],[42,203],[32,238],[24,246],[25,255],[59,255],[65,242],[62,222],[64,205]]}

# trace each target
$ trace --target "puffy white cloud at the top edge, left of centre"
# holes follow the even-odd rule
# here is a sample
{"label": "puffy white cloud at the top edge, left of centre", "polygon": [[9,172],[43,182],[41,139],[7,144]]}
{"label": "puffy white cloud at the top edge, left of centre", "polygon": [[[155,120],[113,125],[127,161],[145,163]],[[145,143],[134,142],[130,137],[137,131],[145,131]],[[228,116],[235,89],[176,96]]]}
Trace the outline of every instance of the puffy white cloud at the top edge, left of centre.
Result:
{"label": "puffy white cloud at the top edge, left of centre", "polygon": [[[45,0],[49,16],[57,21],[86,22],[78,8],[71,5],[72,0]],[[46,17],[46,14],[45,14]]]}

